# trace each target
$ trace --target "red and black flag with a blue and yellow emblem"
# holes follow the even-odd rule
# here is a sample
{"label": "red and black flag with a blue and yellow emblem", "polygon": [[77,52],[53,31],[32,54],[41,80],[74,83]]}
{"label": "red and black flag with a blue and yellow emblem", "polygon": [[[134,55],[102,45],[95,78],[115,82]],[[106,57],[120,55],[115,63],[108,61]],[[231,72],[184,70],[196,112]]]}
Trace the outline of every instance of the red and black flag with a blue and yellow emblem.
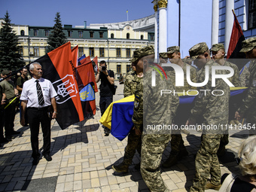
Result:
{"label": "red and black flag with a blue and yellow emblem", "polygon": [[93,64],[87,58],[82,59],[81,65],[76,68],[81,105],[84,111],[84,119],[96,114],[95,93],[98,92],[95,81]]}

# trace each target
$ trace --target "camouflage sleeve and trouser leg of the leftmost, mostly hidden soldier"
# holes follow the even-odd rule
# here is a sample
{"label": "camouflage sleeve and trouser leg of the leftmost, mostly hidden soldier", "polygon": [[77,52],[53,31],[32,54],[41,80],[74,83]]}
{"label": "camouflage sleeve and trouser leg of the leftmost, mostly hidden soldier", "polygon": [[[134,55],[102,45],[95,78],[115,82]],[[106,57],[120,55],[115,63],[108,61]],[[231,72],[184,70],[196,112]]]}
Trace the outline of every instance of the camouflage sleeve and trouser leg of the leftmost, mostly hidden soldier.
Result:
{"label": "camouflage sleeve and trouser leg of the leftmost, mostly hidden soldier", "polygon": [[[124,81],[123,95],[132,96],[136,92],[137,84],[142,81],[142,78],[138,78],[136,72],[130,75],[126,75]],[[142,150],[142,136],[137,136],[135,130],[131,130],[128,135],[128,142],[124,151],[123,164],[129,166],[133,161],[133,156],[136,150],[141,154]]]}

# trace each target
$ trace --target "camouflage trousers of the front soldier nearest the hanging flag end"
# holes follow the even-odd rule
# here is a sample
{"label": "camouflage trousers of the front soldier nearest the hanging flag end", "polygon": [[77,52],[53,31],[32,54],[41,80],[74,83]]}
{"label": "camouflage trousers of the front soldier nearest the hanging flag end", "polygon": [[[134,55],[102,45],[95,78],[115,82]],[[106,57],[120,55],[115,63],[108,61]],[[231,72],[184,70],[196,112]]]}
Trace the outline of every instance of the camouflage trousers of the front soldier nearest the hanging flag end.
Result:
{"label": "camouflage trousers of the front soldier nearest the hanging flag end", "polygon": [[166,134],[142,134],[141,174],[151,191],[169,191],[161,177],[160,163],[170,137]]}

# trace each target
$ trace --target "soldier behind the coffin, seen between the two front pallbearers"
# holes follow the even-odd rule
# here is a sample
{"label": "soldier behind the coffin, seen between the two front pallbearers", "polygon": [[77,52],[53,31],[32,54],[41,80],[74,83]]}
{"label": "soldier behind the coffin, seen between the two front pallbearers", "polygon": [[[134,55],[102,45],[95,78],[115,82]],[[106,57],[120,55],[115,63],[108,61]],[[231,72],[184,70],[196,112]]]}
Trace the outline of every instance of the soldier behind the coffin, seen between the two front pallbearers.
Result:
{"label": "soldier behind the coffin, seen between the two front pallbearers", "polygon": [[[173,64],[176,64],[178,66],[181,66],[184,72],[184,79],[186,79],[187,75],[187,66],[190,67],[190,80],[194,83],[197,82],[197,72],[196,69],[193,66],[188,65],[187,63],[184,63],[181,60],[181,53],[178,46],[172,46],[168,47],[167,49],[167,56],[169,57],[169,61]],[[175,71],[174,69],[166,70],[166,74],[170,81],[172,81],[172,84],[175,85]],[[187,81],[184,81],[184,87],[175,87],[175,92],[183,93],[184,91],[187,92],[187,90],[195,90],[196,87],[191,87],[190,84],[187,83]],[[179,105],[177,115],[174,118],[174,123],[180,127],[181,125],[184,125],[186,123],[187,118],[190,114],[190,109],[193,107],[192,104],[186,104],[186,105]],[[163,163],[163,167],[170,167],[177,163],[178,160],[180,160],[182,157],[187,156],[187,150],[184,146],[184,141],[181,136],[181,130],[172,130],[172,139],[171,139],[171,148],[172,151],[169,154],[168,159],[166,162]]]}

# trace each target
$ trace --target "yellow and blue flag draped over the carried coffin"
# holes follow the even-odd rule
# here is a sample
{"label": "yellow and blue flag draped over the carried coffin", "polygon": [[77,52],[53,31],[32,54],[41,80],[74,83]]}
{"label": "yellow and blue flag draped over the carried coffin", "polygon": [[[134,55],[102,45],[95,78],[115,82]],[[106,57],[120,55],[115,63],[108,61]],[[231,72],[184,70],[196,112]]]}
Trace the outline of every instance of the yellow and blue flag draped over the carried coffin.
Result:
{"label": "yellow and blue flag draped over the carried coffin", "polygon": [[[246,87],[231,87],[230,96],[242,94],[246,89]],[[192,94],[195,95],[197,93],[190,92],[190,95]],[[183,96],[182,93],[178,93],[178,96],[180,105],[192,103],[196,97]],[[120,141],[125,139],[133,128],[133,102],[134,95],[112,102],[99,120],[102,125],[111,129],[111,134]]]}

